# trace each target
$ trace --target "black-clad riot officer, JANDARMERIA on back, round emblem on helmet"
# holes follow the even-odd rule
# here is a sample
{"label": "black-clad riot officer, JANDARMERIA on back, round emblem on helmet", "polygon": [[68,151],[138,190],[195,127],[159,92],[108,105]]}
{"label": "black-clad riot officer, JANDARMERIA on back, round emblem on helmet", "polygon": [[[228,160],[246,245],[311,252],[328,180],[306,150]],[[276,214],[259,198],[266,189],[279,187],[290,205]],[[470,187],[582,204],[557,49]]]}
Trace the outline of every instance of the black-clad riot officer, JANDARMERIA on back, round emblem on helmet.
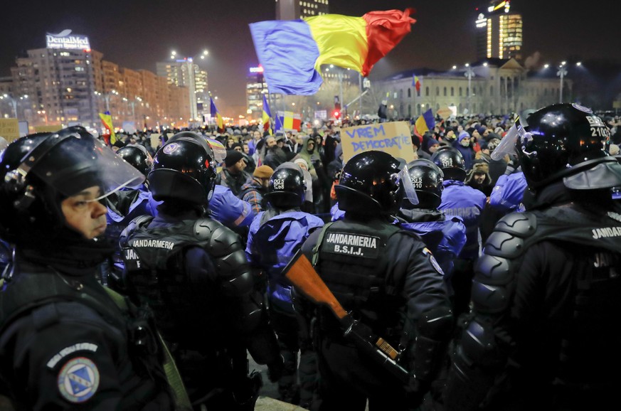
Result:
{"label": "black-clad riot officer, JANDARMERIA on back, round emblem on helmet", "polygon": [[147,180],[162,203],[122,233],[124,279],[155,311],[193,405],[252,410],[261,381],[248,376],[246,350],[275,379],[282,358],[240,237],[206,216],[218,153],[193,132],[156,153]]}

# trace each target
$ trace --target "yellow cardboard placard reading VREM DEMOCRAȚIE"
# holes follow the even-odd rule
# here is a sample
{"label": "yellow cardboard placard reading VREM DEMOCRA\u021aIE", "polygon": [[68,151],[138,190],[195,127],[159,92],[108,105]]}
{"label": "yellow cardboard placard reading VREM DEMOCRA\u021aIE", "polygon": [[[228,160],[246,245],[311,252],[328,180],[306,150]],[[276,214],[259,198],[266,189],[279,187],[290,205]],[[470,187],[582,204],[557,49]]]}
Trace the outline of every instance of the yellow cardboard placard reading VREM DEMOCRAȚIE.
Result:
{"label": "yellow cardboard placard reading VREM DEMOCRA\u021aIE", "polygon": [[408,122],[374,123],[341,129],[343,161],[347,162],[364,151],[384,151],[395,158],[410,162],[414,147]]}

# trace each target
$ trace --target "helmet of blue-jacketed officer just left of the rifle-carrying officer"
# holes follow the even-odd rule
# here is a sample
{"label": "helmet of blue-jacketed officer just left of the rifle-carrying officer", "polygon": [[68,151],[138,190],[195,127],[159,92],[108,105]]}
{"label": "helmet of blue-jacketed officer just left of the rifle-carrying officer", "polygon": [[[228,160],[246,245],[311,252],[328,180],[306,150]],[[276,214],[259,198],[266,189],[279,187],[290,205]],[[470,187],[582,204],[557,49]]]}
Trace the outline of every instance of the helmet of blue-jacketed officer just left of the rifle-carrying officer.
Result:
{"label": "helmet of blue-jacketed officer just left of the rifle-carrying officer", "polygon": [[297,208],[304,203],[306,188],[304,171],[297,164],[285,161],[270,177],[265,198],[274,208]]}

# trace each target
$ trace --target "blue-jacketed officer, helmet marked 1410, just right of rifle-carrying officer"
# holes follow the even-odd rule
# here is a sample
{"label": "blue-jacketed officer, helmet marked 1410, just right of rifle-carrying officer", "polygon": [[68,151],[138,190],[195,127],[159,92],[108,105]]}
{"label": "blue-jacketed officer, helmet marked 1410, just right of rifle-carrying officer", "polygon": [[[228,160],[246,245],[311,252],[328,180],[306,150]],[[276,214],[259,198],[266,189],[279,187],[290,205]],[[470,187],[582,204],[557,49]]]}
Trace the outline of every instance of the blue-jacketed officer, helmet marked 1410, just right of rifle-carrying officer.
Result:
{"label": "blue-jacketed officer, helmet marked 1410, just right of rifle-carrying officer", "polygon": [[397,214],[400,226],[420,235],[442,267],[449,295],[452,295],[450,278],[453,260],[460,255],[466,243],[466,226],[461,217],[445,215],[437,209],[444,190],[444,174],[438,166],[430,160],[418,159],[408,164],[408,173],[418,196],[418,204],[403,199]]}

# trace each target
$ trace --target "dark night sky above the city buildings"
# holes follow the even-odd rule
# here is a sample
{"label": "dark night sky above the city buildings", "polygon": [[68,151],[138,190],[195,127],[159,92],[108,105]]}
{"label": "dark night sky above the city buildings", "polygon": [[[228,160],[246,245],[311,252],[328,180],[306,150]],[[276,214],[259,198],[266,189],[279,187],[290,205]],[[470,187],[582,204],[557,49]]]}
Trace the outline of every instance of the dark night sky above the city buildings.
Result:
{"label": "dark night sky above the city buildings", "polygon": [[[46,33],[70,28],[90,39],[104,58],[134,70],[155,72],[170,51],[193,56],[204,48],[209,58],[209,88],[218,110],[232,115],[245,105],[245,76],[258,64],[248,23],[275,18],[273,0],[55,0],[3,2],[0,13],[0,77],[10,75],[16,56],[43,48]],[[330,13],[362,16],[367,11],[416,9],[412,32],[380,60],[370,78],[408,68],[447,70],[475,58],[476,6],[467,0],[331,0]],[[530,61],[556,64],[570,56],[580,60],[620,60],[616,2],[575,6],[575,1],[514,0],[511,9],[524,21],[524,55]],[[537,57],[538,56],[538,57]]]}

